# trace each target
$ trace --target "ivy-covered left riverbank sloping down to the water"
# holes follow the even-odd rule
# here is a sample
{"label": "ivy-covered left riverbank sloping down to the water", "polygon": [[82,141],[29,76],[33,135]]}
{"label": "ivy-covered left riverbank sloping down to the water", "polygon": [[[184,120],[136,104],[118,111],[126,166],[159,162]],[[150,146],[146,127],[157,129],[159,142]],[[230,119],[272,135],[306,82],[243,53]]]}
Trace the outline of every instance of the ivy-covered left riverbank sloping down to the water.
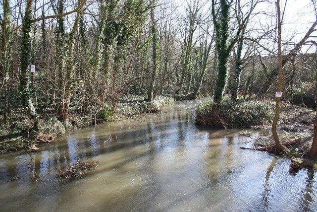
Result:
{"label": "ivy-covered left riverbank sloping down to the water", "polygon": [[140,113],[158,112],[162,106],[175,101],[173,97],[167,95],[157,96],[154,102],[146,102],[143,99],[144,96],[123,96],[114,111],[108,108],[98,110],[90,108],[83,112],[72,105],[72,116],[65,122],[60,122],[56,118],[53,108],[39,108],[40,120],[37,129],[33,120],[25,116],[21,108],[14,108],[6,123],[0,123],[0,153],[36,150],[37,143],[51,142],[71,130],[120,120]]}

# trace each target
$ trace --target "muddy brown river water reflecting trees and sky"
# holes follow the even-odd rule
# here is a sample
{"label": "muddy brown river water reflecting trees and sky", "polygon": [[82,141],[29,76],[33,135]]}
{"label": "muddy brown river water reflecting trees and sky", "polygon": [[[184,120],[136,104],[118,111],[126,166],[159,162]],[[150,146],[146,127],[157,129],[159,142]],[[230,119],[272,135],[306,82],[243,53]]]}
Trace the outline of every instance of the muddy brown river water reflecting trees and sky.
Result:
{"label": "muddy brown river water reflecting trees and sky", "polygon": [[[0,155],[0,211],[317,210],[314,171],[291,175],[288,159],[240,149],[251,145],[245,130],[196,126],[202,101],[70,132],[32,160]],[[78,158],[99,165],[79,179],[57,177]],[[44,182],[32,182],[32,166]]]}

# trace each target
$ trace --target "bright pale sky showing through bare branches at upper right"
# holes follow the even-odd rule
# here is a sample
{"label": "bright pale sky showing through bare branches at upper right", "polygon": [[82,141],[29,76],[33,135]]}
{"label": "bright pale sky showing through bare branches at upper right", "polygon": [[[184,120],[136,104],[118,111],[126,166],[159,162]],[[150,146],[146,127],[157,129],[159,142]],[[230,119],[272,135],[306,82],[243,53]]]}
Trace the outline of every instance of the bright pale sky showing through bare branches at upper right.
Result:
{"label": "bright pale sky showing through bare branches at upper right", "polygon": [[[187,0],[174,0],[175,3],[181,5],[178,9],[178,13],[184,11],[184,7]],[[200,0],[204,4],[204,12],[211,11],[211,0]],[[241,0],[240,3],[243,5],[245,2],[250,0]],[[254,13],[266,13],[266,14],[257,14],[252,20],[252,23],[249,24],[249,28],[257,29],[257,35],[254,34],[254,37],[259,36],[263,33],[261,31],[260,25],[272,25],[276,24],[276,0],[267,0],[265,2],[258,3]],[[286,7],[285,7],[286,5]],[[285,8],[285,9],[284,9]],[[285,51],[291,49],[296,43],[298,43],[306,34],[308,29],[312,26],[313,22],[316,20],[316,12],[312,4],[312,0],[280,0],[280,9],[283,13],[283,24],[282,24],[282,42],[284,43],[283,49]],[[232,13],[232,12],[231,12]],[[315,32],[314,35],[317,36]],[[317,41],[316,38],[313,38]],[[276,49],[277,46],[271,43],[270,48]],[[316,52],[316,47],[304,46],[302,52],[305,53]]]}

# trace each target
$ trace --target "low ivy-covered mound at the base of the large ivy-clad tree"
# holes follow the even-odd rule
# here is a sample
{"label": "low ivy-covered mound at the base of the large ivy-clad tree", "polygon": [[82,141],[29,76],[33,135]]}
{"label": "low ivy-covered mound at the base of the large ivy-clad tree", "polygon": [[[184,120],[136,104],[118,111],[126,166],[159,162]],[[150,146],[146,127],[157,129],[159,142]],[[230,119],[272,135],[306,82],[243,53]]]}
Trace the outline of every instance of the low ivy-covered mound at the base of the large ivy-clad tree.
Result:
{"label": "low ivy-covered mound at the base of the large ivy-clad tree", "polygon": [[224,100],[219,118],[213,116],[213,101],[202,103],[197,109],[196,123],[210,127],[250,128],[270,123],[274,116],[273,102],[250,100],[242,107],[242,100]]}

